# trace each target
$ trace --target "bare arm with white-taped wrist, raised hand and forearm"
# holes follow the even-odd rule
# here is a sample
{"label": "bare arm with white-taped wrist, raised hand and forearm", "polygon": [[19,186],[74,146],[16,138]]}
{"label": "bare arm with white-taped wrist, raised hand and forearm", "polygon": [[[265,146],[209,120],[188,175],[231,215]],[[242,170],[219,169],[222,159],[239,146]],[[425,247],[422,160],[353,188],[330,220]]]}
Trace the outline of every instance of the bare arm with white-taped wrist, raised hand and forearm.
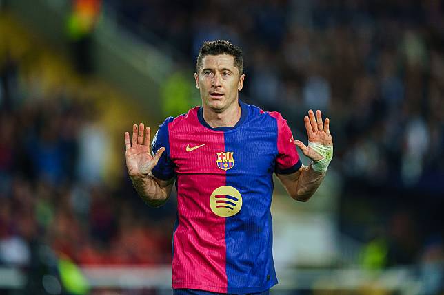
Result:
{"label": "bare arm with white-taped wrist, raised hand and forearm", "polygon": [[[301,166],[299,171],[290,175],[277,174],[287,193],[297,201],[307,201],[321,185],[325,171],[332,158],[333,140],[330,134],[330,120],[322,122],[321,111],[316,111],[316,118],[312,110],[304,117],[305,129],[308,135],[308,146],[295,140],[304,155],[312,160],[309,166]],[[313,165],[315,168],[313,168]]]}

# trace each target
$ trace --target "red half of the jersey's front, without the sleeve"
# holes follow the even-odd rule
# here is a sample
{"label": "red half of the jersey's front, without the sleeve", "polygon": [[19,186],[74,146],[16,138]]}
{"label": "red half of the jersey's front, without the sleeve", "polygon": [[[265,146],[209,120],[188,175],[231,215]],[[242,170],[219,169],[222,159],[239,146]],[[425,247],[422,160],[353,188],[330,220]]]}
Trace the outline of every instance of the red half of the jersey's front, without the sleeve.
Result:
{"label": "red half of the jersey's front, without the sleeve", "polygon": [[[226,183],[226,172],[216,162],[216,151],[225,151],[224,135],[208,132],[197,120],[196,110],[168,125],[179,216],[173,237],[172,287],[226,293],[225,217],[210,208],[210,195]],[[205,145],[186,151],[188,145],[201,144]]]}

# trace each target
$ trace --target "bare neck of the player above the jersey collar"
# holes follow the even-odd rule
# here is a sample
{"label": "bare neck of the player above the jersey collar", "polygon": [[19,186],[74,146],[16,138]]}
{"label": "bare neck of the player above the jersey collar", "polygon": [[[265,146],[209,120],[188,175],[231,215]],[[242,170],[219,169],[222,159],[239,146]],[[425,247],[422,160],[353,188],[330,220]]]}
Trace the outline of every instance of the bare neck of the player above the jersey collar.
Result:
{"label": "bare neck of the player above the jersey collar", "polygon": [[232,107],[225,109],[221,113],[216,113],[209,107],[203,105],[203,119],[212,128],[217,127],[234,127],[241,118],[242,109],[239,102],[233,104]]}

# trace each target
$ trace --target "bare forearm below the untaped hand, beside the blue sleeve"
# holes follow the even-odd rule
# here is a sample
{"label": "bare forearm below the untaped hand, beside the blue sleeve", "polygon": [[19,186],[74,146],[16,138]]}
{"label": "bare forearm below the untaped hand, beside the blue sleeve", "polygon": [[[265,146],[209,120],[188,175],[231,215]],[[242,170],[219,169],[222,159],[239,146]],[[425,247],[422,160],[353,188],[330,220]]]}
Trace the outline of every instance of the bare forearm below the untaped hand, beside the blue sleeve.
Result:
{"label": "bare forearm below the untaped hand, beside the blue sleeve", "polygon": [[[171,185],[161,186],[152,175],[130,177],[137,194],[146,204],[157,208],[165,204],[171,193]],[[171,182],[168,182],[170,184]]]}

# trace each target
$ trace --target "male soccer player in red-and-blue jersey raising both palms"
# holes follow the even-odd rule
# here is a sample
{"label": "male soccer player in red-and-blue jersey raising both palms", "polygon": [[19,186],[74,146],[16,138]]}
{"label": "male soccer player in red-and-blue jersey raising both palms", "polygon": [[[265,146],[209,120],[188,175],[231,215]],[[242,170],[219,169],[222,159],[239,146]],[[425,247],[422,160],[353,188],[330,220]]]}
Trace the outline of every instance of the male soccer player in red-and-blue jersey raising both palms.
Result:
{"label": "male soccer player in red-and-blue jersey raising both palms", "polygon": [[[239,100],[241,49],[203,43],[196,87],[202,105],[167,118],[152,142],[141,123],[125,133],[126,164],[137,193],[161,206],[177,188],[173,236],[174,294],[268,294],[276,285],[272,257],[273,180],[307,201],[332,159],[329,119],[305,116],[308,146],[294,140],[280,113]],[[145,133],[145,134],[144,134]],[[312,162],[303,166],[296,146]]]}

